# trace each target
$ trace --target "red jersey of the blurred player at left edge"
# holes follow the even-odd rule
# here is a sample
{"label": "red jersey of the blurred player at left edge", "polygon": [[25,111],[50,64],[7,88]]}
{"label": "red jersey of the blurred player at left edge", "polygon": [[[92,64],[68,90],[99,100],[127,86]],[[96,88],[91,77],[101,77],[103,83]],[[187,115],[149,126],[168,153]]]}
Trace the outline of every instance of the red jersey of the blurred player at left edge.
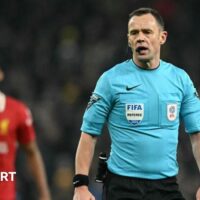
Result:
{"label": "red jersey of the blurred player at left edge", "polygon": [[[18,143],[27,144],[35,139],[29,109],[20,101],[0,92],[0,175],[15,172]],[[14,177],[16,178],[16,176]],[[5,181],[0,176],[0,200],[16,198],[15,180]]]}

